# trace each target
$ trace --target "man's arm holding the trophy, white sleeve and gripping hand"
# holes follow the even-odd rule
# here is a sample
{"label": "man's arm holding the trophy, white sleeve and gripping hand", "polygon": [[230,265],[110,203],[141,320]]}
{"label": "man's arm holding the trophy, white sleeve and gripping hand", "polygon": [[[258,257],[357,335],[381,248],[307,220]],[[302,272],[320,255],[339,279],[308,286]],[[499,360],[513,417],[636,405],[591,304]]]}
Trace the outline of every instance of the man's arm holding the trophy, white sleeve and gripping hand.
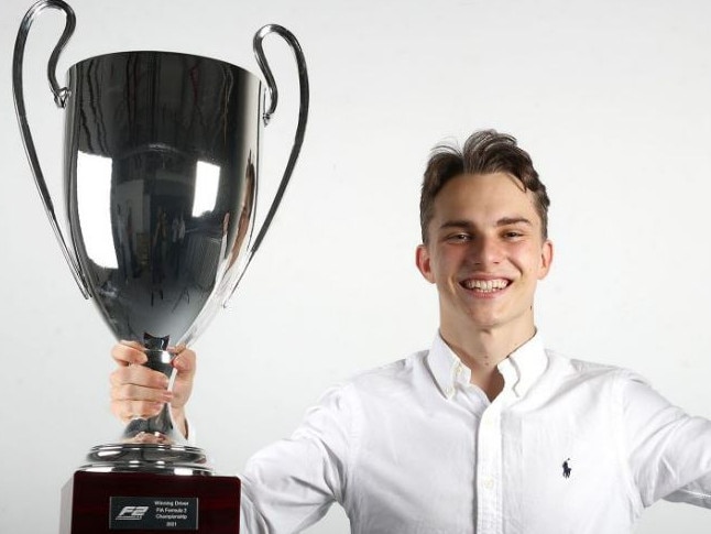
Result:
{"label": "man's arm holding the trophy, white sleeve and gripping hand", "polygon": [[[165,402],[176,425],[185,425],[185,404],[195,375],[195,352],[183,349],[173,393],[165,377],[141,363],[145,355],[135,344],[113,347],[118,368],[111,374],[111,408],[122,421],[156,415]],[[359,421],[351,386],[332,388],[288,439],[254,455],[240,476],[240,524],[243,534],[298,532],[322,517],[335,502],[343,502],[349,476],[351,443]],[[178,419],[179,417],[179,419]]]}

